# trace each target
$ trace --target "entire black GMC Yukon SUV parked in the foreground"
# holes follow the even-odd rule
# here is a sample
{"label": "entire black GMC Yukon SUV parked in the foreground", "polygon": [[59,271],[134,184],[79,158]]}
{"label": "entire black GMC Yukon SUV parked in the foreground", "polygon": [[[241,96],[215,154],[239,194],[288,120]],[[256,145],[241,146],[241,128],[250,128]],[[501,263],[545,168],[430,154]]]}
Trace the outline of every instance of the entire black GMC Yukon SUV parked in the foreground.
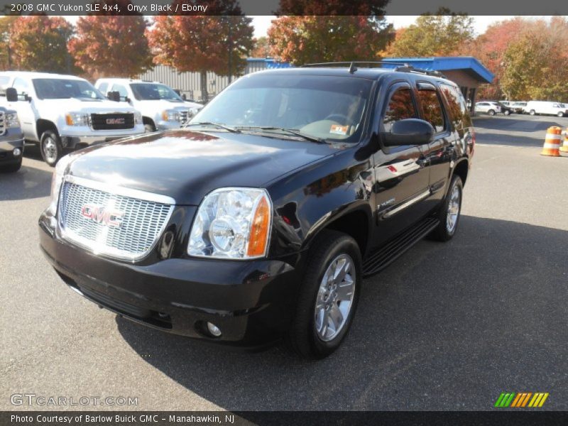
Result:
{"label": "entire black GMC Yukon SUV parked in the foreground", "polygon": [[234,346],[285,338],[322,358],[364,276],[454,236],[474,143],[441,75],[257,72],[185,129],[62,158],[40,244],[67,285],[131,320]]}

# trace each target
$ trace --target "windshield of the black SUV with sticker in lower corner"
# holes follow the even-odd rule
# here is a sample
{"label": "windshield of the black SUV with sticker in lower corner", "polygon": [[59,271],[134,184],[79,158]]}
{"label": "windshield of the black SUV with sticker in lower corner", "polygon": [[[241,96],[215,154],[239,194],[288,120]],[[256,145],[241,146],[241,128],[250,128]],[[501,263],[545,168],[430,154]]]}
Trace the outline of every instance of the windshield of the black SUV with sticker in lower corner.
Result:
{"label": "windshield of the black SUV with sticker in lower corner", "polygon": [[251,75],[225,89],[191,123],[244,131],[289,129],[322,140],[355,142],[371,85],[371,80],[357,77]]}

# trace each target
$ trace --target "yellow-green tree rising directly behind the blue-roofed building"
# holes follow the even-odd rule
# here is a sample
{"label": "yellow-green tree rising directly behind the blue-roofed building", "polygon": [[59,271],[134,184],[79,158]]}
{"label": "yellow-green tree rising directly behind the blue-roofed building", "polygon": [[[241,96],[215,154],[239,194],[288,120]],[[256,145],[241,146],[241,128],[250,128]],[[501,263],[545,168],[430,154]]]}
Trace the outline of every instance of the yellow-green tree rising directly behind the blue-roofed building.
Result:
{"label": "yellow-green tree rising directly behind the blue-roofed building", "polygon": [[398,57],[449,56],[474,39],[474,19],[464,13],[440,8],[424,14],[416,23],[399,31],[386,54]]}

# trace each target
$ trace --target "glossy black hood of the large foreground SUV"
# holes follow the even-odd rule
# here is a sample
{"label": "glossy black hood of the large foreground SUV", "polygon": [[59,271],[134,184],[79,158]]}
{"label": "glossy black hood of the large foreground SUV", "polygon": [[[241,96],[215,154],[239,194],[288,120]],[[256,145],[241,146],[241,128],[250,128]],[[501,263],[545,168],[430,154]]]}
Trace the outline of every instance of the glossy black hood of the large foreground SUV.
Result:
{"label": "glossy black hood of the large foreground SUV", "polygon": [[296,139],[172,130],[86,148],[70,174],[197,205],[217,188],[262,187],[337,151]]}

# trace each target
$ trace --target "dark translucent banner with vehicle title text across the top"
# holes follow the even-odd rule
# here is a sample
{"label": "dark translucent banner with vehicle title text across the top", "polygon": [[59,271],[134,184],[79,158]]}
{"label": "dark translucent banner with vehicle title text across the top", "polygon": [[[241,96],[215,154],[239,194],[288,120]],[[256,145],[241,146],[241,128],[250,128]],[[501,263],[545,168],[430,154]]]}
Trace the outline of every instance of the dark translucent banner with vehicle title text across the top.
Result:
{"label": "dark translucent banner with vehicle title text across the top", "polygon": [[568,14],[565,0],[0,0],[0,15],[471,16]]}

